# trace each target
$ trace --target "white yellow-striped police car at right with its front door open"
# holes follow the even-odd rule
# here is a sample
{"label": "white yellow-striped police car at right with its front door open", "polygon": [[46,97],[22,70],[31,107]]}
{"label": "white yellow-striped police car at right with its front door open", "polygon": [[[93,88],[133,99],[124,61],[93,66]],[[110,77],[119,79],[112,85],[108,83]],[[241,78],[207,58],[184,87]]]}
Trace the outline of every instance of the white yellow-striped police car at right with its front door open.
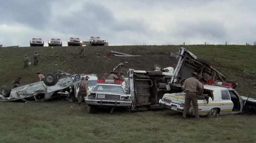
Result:
{"label": "white yellow-striped police car at right with its front door open", "polygon": [[[217,114],[238,114],[244,112],[256,113],[256,100],[245,96],[240,96],[234,90],[231,83],[207,81],[204,85],[203,94],[213,93],[214,100],[198,100],[199,115],[215,117]],[[183,112],[185,106],[185,91],[181,93],[164,94],[159,104],[164,108]],[[195,115],[193,104],[190,103],[187,111],[189,115]]]}

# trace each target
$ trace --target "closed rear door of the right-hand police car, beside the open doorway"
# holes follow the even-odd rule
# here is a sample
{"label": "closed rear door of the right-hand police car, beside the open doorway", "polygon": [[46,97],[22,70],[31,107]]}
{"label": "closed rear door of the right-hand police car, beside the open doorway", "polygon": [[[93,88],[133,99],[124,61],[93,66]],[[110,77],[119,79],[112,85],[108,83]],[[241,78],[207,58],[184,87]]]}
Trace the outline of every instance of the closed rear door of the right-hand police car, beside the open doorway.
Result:
{"label": "closed rear door of the right-hand police car, beside the open doorway", "polygon": [[220,114],[230,114],[232,112],[234,104],[230,99],[228,90],[221,90],[220,106]]}

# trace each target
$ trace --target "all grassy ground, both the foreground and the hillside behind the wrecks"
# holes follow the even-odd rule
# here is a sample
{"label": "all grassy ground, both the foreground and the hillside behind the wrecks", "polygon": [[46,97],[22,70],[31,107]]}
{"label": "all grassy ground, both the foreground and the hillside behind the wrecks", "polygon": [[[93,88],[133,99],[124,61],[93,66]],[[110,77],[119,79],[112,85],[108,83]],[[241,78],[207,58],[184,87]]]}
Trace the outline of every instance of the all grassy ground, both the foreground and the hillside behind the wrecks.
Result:
{"label": "all grassy ground, both the foreground and the hillside behind the wrecks", "polygon": [[[125,69],[152,70],[154,64],[174,67],[177,60],[170,57],[170,52],[178,52],[180,47],[187,48],[198,58],[208,59],[228,79],[236,80],[237,90],[242,95],[256,92],[255,74],[244,72],[255,69],[256,49],[254,46],[241,45],[86,47],[88,52],[84,59],[79,58],[76,47],[0,48],[0,84],[11,86],[10,82],[17,76],[23,77],[22,84],[32,83],[38,80],[37,71],[46,74],[56,69],[101,76],[120,61],[128,62],[124,65]],[[104,57],[112,50],[141,57]],[[39,65],[24,69],[23,56],[28,54],[32,58],[34,51],[40,54]],[[221,115],[219,119],[202,117],[201,121],[196,121],[194,117],[181,120],[180,113],[170,110],[131,114],[109,112],[104,110],[87,114],[84,103],[78,106],[61,100],[1,102],[0,142],[256,142],[255,115]]]}

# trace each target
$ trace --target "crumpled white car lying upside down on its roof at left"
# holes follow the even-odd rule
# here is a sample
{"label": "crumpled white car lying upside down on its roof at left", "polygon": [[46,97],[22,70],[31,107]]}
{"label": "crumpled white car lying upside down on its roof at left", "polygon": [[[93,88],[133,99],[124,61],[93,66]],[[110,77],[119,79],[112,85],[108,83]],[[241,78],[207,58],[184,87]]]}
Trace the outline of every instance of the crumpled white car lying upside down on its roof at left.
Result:
{"label": "crumpled white car lying upside down on its roof at left", "polygon": [[43,81],[9,89],[2,86],[0,101],[22,100],[24,102],[42,102],[58,95],[68,95],[72,86],[79,83],[80,75],[71,75],[63,71],[47,73]]}

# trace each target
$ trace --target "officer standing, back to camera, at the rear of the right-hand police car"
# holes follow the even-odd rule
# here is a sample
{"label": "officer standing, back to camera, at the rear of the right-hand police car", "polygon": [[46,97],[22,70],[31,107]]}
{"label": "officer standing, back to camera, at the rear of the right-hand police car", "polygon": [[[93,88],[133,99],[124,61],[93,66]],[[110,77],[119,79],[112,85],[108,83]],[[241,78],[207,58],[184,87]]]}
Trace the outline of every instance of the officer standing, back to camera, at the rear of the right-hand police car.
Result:
{"label": "officer standing, back to camera, at the rear of the right-hand police car", "polygon": [[195,109],[195,118],[200,120],[199,118],[199,109],[198,109],[198,103],[197,103],[197,88],[202,90],[200,86],[200,82],[197,80],[197,73],[193,72],[192,77],[186,79],[184,82],[181,83],[182,89],[186,90],[186,96],[185,96],[185,107],[183,109],[183,117],[182,119],[186,118],[187,109],[190,105],[190,102],[192,101],[194,109]]}

